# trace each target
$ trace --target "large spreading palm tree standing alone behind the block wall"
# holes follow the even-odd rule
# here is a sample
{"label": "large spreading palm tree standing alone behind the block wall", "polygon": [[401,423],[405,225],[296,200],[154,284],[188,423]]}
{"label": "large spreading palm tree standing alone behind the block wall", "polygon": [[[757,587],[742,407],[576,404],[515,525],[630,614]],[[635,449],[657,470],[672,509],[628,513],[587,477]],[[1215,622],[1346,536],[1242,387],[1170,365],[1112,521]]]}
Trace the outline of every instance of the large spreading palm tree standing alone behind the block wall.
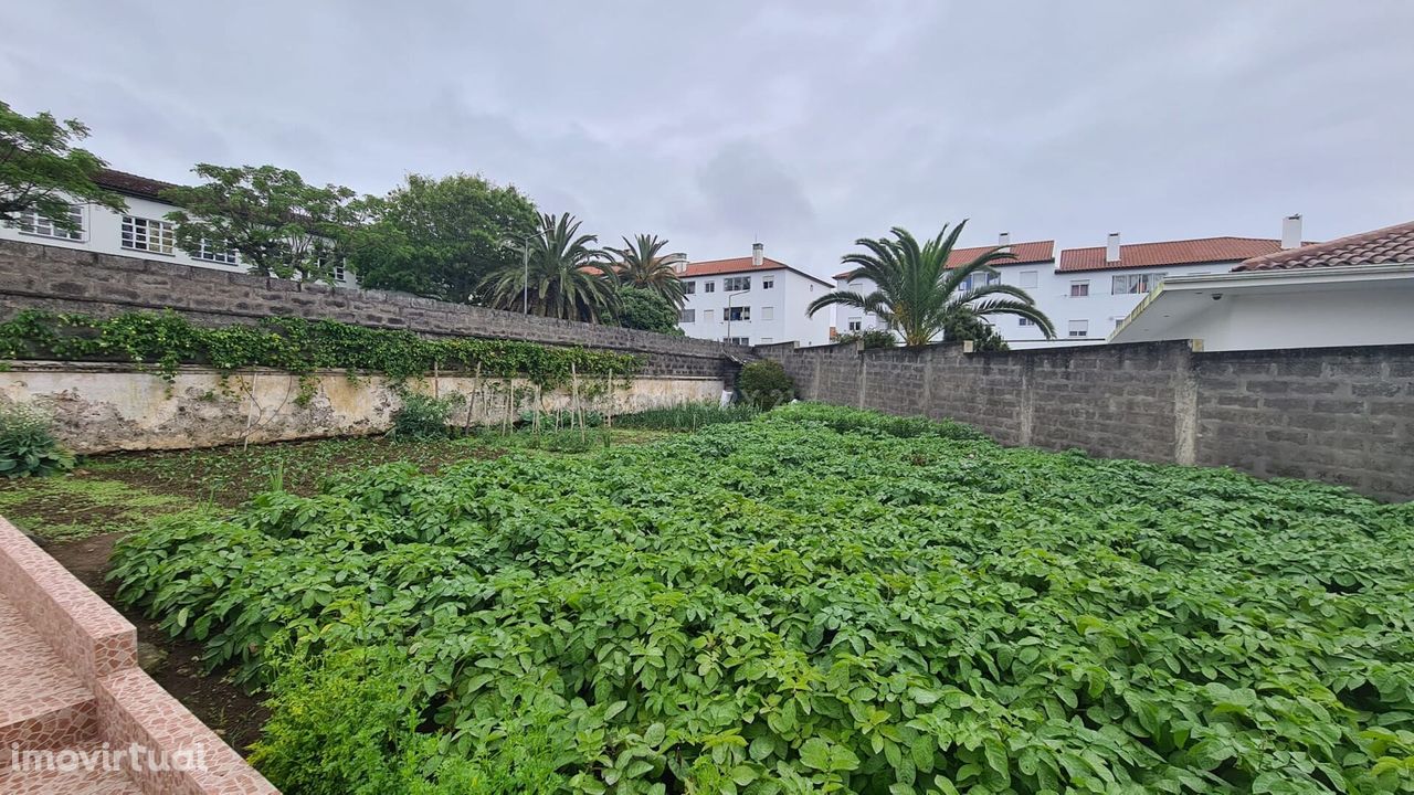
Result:
{"label": "large spreading palm tree standing alone behind the block wall", "polygon": [[834,290],[820,296],[806,308],[806,315],[829,306],[857,307],[877,314],[888,327],[904,335],[905,345],[928,345],[945,328],[956,327],[967,320],[980,320],[994,314],[1014,314],[1041,327],[1046,340],[1055,337],[1051,318],[1036,308],[1035,301],[1021,287],[1011,284],[984,284],[960,290],[974,273],[995,274],[994,262],[1014,259],[1003,246],[983,252],[977,259],[949,267],[953,246],[963,232],[963,221],[957,226],[937,233],[936,238],[919,246],[906,229],[894,226],[894,239],[877,240],[861,238],[855,240],[867,252],[848,253],[841,262],[855,266],[848,279],[867,279],[875,284],[870,294],[854,290]]}

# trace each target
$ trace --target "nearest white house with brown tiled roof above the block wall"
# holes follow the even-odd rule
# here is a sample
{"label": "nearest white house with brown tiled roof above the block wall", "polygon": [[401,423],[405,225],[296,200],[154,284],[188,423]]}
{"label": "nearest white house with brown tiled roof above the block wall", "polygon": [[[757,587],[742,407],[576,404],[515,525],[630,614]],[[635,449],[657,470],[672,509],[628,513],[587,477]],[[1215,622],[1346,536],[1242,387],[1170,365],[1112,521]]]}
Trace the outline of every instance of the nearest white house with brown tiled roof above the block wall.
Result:
{"label": "nearest white house with brown tiled roof above the block wall", "polygon": [[1203,351],[1414,344],[1414,222],[1169,277],[1111,342],[1195,340]]}

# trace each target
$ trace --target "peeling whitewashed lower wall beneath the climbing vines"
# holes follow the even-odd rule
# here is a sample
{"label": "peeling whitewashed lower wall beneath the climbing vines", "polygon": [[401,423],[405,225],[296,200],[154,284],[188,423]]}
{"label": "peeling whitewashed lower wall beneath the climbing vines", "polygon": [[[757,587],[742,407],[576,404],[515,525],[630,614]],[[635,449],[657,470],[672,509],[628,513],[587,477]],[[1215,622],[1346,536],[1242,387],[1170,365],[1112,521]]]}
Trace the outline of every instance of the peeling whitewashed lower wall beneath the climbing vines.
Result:
{"label": "peeling whitewashed lower wall beneath the climbing vines", "polygon": [[[383,433],[402,398],[380,376],[349,379],[342,371],[314,376],[312,399],[300,398],[298,378],[279,371],[242,371],[222,379],[206,368],[181,368],[173,383],[126,365],[17,362],[0,372],[0,405],[34,403],[54,414],[61,441],[75,453],[173,450],[242,441],[290,441]],[[626,413],[721,398],[717,378],[635,378],[615,388],[600,379],[536,398],[523,381],[448,373],[407,383],[417,392],[465,399],[457,426],[515,422],[525,410],[583,406],[585,412]]]}

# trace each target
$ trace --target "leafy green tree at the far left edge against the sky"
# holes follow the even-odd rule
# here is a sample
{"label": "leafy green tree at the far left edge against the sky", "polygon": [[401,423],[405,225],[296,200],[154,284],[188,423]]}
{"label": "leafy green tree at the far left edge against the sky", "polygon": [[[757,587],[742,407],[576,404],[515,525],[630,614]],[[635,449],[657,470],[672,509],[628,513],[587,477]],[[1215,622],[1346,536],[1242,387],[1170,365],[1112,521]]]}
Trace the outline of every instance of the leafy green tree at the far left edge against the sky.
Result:
{"label": "leafy green tree at the far left edge against the sky", "polygon": [[78,119],[59,122],[42,112],[31,117],[0,102],[0,222],[14,224],[34,211],[76,232],[69,215],[74,202],[127,209],[122,197],[93,182],[107,164],[74,146],[88,134]]}

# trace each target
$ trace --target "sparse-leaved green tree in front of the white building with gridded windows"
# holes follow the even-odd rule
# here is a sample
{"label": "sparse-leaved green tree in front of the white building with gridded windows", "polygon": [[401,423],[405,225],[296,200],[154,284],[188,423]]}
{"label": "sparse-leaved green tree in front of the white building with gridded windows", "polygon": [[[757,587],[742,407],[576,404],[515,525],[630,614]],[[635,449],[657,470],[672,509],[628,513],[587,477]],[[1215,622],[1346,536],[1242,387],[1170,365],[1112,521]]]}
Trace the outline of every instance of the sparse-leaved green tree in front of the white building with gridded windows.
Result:
{"label": "sparse-leaved green tree in front of the white building with gridded windows", "polygon": [[280,279],[334,279],[344,263],[351,229],[378,208],[341,185],[311,185],[298,173],[274,166],[192,168],[205,184],[165,191],[182,209],[168,212],[177,245],[232,249],[250,272]]}

